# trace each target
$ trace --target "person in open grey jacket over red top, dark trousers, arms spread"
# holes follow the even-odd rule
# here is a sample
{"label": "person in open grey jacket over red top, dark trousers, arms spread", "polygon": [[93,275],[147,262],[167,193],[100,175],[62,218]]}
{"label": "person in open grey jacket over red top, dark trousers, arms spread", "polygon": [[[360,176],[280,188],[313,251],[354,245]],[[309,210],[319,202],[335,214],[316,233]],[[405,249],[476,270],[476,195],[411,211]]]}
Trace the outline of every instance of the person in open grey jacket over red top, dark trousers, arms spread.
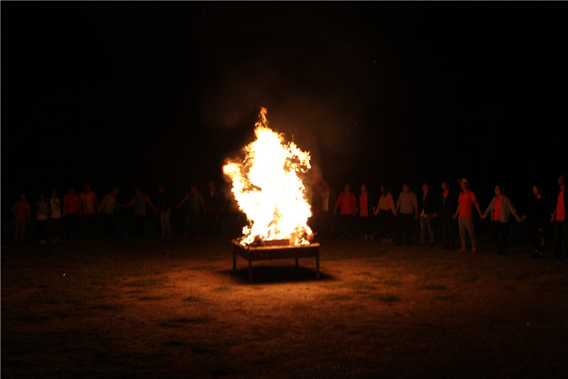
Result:
{"label": "person in open grey jacket over red top, dark trousers, arms spread", "polygon": [[485,213],[481,215],[481,220],[491,216],[491,235],[493,235],[497,257],[503,255],[507,247],[507,228],[510,215],[513,215],[519,223],[525,219],[518,215],[510,198],[503,194],[503,187],[495,186],[495,197],[487,206]]}

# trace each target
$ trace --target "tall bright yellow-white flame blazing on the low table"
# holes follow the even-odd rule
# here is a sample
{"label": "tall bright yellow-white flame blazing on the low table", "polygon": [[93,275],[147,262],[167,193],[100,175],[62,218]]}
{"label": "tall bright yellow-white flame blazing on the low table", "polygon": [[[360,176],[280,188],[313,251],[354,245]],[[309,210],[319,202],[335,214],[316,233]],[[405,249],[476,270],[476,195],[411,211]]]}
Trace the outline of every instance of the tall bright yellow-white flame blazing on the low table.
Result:
{"label": "tall bright yellow-white flame blazing on the low table", "polygon": [[291,245],[307,245],[312,236],[307,218],[312,213],[298,175],[310,169],[310,152],[284,143],[283,134],[268,127],[264,107],[254,133],[256,140],[244,146],[244,160],[227,159],[223,166],[239,209],[249,220],[240,242],[290,240]]}

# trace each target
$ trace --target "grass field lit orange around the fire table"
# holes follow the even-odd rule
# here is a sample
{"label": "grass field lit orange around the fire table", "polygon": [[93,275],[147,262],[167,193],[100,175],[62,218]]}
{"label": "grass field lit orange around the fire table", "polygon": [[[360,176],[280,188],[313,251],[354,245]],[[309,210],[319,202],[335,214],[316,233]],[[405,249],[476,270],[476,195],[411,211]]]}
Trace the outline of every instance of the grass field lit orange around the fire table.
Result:
{"label": "grass field lit orange around the fire table", "polygon": [[568,265],[323,241],[231,272],[226,239],[6,247],[3,378],[567,378]]}

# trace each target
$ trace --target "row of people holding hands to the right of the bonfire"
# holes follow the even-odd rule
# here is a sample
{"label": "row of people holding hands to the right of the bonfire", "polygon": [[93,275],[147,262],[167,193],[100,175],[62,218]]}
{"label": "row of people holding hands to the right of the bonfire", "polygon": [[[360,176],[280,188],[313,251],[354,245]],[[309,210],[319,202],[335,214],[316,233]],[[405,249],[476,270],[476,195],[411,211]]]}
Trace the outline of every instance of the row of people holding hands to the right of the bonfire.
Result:
{"label": "row of people holding hands to the right of the bonfire", "polygon": [[[495,196],[487,205],[484,212],[473,191],[469,189],[469,181],[461,178],[460,192],[451,190],[449,183],[443,181],[440,185],[442,193],[439,198],[430,191],[428,183],[422,184],[422,196],[410,190],[408,184],[403,184],[403,190],[394,201],[393,195],[381,186],[378,199],[368,193],[365,185],[361,186],[359,196],[351,191],[349,184],[339,196],[329,188],[327,181],[322,181],[313,200],[315,205],[315,230],[320,237],[330,237],[334,234],[337,221],[339,236],[351,236],[354,225],[358,225],[368,241],[373,240],[373,221],[378,221],[378,236],[382,242],[402,243],[411,241],[413,222],[420,221],[420,244],[425,244],[429,237],[430,245],[435,243],[433,219],[439,219],[442,224],[443,247],[453,249],[456,234],[459,235],[460,252],[466,251],[466,240],[471,241],[471,251],[476,252],[477,239],[474,226],[474,210],[479,213],[481,220],[491,221],[491,234],[496,247],[496,255],[503,255],[506,250],[507,230],[511,218],[522,223],[528,216],[519,215],[511,199],[503,193],[503,186],[495,186]],[[542,188],[533,186],[534,201],[530,206],[530,223],[534,237],[533,247],[535,257],[542,257],[545,247],[545,235],[550,223],[554,224],[555,258],[562,258],[562,249],[568,245],[568,220],[566,218],[565,176],[558,178],[559,193],[552,209],[542,196]],[[338,215],[337,219],[334,215]],[[373,218],[372,216],[377,216]],[[458,233],[456,233],[456,230]],[[568,260],[568,257],[564,257]]]}

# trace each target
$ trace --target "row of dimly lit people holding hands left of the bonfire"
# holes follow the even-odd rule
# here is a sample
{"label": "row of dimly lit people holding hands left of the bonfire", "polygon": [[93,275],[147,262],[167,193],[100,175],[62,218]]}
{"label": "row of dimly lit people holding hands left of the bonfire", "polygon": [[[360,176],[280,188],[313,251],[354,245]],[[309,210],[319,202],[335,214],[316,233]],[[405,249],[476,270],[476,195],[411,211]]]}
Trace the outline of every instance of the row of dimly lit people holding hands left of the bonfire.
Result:
{"label": "row of dimly lit people holding hands left of the bonfire", "polygon": [[[144,193],[141,188],[135,188],[134,196],[128,203],[119,203],[117,196],[120,192],[118,187],[105,194],[102,201],[98,201],[97,194],[92,191],[89,184],[85,184],[83,191],[75,193],[75,188],[70,187],[68,193],[62,200],[58,197],[57,190],[53,190],[48,200],[41,194],[35,201],[35,224],[37,225],[38,241],[41,244],[47,243],[48,226],[52,242],[59,242],[62,223],[65,223],[67,238],[77,237],[77,228],[82,224],[86,237],[97,235],[97,223],[102,220],[102,230],[104,235],[111,235],[114,226],[116,210],[121,208],[133,208],[132,229],[133,233],[141,235],[143,228],[148,222],[146,215],[147,209],[151,208],[160,216],[160,229],[162,237],[172,235],[170,216],[172,211],[179,210],[187,202],[187,216],[185,219],[184,237],[188,233],[197,235],[202,229],[208,233],[219,233],[221,222],[219,215],[225,209],[236,210],[231,206],[228,198],[217,190],[214,181],[209,181],[208,191],[203,196],[197,191],[196,186],[191,186],[190,192],[181,199],[179,203],[174,203],[170,193],[165,191],[163,186],[158,186],[158,196],[155,203]],[[26,194],[21,197],[11,208],[14,219],[14,243],[23,243],[25,240],[26,224],[31,219],[31,205],[26,201]],[[203,219],[202,219],[202,215]],[[204,224],[204,228],[202,228]]]}

